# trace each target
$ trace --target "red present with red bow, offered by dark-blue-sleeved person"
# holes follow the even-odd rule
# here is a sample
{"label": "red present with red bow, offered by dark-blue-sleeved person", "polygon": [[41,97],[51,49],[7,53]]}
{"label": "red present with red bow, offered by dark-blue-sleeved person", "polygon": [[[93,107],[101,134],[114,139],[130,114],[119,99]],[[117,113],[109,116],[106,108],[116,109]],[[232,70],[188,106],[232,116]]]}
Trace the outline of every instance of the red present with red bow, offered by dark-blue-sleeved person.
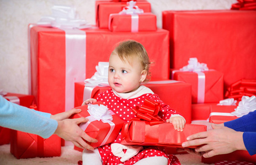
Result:
{"label": "red present with red bow, offered by dark-blue-sleeved person", "polygon": [[136,118],[130,120],[122,128],[121,144],[179,148],[189,135],[206,131],[205,125],[193,124],[186,124],[183,131],[177,131],[172,123],[164,123],[157,116],[160,109],[159,103],[149,100],[145,100],[140,108],[133,109]]}

